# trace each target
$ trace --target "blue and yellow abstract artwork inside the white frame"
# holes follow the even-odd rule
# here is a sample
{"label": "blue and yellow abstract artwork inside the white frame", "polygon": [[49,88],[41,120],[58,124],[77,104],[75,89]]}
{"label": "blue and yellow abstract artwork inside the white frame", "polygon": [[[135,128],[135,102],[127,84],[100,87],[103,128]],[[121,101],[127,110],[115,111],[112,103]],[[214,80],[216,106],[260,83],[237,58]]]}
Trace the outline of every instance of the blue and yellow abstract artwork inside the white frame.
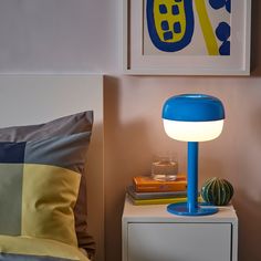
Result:
{"label": "blue and yellow abstract artwork inside the white frame", "polygon": [[145,54],[230,55],[231,0],[147,0],[145,12]]}

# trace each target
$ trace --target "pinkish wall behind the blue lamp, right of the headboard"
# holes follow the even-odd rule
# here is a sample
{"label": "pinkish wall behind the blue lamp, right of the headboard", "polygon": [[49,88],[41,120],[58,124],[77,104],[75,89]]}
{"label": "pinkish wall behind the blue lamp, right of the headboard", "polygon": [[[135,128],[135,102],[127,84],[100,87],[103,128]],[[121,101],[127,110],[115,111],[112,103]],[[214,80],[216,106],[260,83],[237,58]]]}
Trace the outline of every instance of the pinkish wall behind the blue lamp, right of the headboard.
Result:
{"label": "pinkish wall behind the blue lamp, right of the headboard", "polygon": [[200,144],[199,181],[225,177],[234,186],[239,217],[239,261],[260,260],[261,241],[261,12],[253,1],[250,77],[106,76],[105,194],[106,260],[121,260],[121,218],[125,187],[132,177],[149,173],[158,150],[175,150],[181,169],[186,144],[169,139],[163,129],[164,101],[179,93],[207,93],[226,106],[221,136]]}

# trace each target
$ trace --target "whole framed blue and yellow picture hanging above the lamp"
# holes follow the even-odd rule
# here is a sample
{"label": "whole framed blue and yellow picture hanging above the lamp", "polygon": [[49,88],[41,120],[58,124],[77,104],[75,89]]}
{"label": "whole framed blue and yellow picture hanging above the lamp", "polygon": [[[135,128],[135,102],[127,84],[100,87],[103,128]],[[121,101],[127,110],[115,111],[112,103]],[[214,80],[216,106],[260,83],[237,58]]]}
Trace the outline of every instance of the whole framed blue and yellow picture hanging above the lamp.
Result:
{"label": "whole framed blue and yellow picture hanging above the lamp", "polygon": [[251,0],[123,0],[128,74],[249,75]]}

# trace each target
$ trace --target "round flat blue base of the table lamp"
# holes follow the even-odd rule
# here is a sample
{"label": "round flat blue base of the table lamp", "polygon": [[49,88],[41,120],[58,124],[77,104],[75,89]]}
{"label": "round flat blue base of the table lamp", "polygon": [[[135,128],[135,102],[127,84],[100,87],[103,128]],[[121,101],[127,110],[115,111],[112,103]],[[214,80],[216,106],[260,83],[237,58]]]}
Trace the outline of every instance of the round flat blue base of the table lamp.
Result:
{"label": "round flat blue base of the table lamp", "polygon": [[208,203],[199,203],[195,211],[189,211],[186,202],[170,203],[167,207],[168,212],[178,216],[208,216],[218,212],[218,208]]}

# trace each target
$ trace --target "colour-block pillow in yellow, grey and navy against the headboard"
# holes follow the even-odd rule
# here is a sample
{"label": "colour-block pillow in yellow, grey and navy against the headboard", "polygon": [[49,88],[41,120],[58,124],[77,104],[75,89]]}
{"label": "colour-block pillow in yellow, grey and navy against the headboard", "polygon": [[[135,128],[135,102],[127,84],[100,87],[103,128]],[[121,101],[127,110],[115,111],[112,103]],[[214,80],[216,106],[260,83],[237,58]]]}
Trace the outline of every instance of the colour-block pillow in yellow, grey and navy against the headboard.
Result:
{"label": "colour-block pillow in yellow, grey and navy against the headboard", "polygon": [[84,175],[92,125],[88,111],[0,129],[0,234],[93,250]]}

